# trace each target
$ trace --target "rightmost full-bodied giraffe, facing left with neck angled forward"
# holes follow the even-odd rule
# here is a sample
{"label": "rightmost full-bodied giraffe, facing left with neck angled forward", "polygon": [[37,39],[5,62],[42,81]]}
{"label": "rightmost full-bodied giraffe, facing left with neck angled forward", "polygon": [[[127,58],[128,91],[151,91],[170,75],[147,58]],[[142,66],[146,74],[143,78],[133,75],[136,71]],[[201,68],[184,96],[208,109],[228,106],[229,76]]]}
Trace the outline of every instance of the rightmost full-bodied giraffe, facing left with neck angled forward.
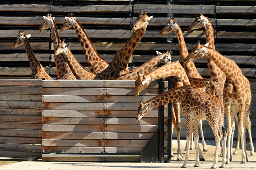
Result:
{"label": "rightmost full-bodied giraffe, facing left with neck angled forward", "polygon": [[[200,45],[200,41],[192,48],[190,54],[186,57],[184,62],[190,60],[200,59],[203,56],[213,60],[214,63],[226,74],[227,79],[223,92],[224,108],[228,122],[228,150],[227,150],[227,164],[231,161],[231,134],[232,123],[234,121],[234,114],[239,112],[238,131],[241,136],[242,146],[242,163],[248,161],[246,145],[245,145],[245,130],[247,118],[251,106],[251,88],[248,79],[242,74],[241,69],[233,61],[221,55],[218,51],[209,48],[208,43],[205,46]],[[227,90],[229,89],[229,91]]]}

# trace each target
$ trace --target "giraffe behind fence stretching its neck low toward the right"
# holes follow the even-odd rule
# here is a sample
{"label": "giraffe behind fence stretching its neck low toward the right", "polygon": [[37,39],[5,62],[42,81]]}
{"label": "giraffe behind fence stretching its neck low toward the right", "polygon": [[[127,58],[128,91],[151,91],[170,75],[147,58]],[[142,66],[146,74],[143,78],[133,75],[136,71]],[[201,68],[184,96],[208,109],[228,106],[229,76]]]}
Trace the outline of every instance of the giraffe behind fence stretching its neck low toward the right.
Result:
{"label": "giraffe behind fence stretching its neck low toward the right", "polygon": [[141,74],[149,74],[154,68],[158,66],[158,64],[168,64],[172,61],[171,51],[167,51],[165,53],[160,53],[157,51],[157,56],[153,57],[149,61],[145,62],[144,64],[140,65],[138,68],[131,70],[129,73],[122,74],[114,80],[136,80],[137,79],[137,72]]}

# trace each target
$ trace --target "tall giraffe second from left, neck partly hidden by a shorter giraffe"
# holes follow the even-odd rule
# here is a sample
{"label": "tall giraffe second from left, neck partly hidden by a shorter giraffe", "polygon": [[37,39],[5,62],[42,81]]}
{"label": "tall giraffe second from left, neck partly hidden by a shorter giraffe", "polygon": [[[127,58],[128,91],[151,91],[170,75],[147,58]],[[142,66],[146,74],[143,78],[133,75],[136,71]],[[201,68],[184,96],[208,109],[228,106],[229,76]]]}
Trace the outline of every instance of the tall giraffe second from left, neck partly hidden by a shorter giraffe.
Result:
{"label": "tall giraffe second from left, neck partly hidden by a shorter giraffe", "polygon": [[[59,44],[60,43],[60,37],[57,30],[56,23],[54,21],[54,17],[51,17],[51,14],[47,14],[47,16],[43,16],[44,21],[41,25],[41,27],[38,29],[39,32],[51,28],[51,36],[53,44]],[[56,51],[56,46],[53,46],[54,52]],[[57,69],[57,77],[56,80],[59,79],[76,79],[74,74],[69,68],[69,65],[67,64],[64,56],[62,54],[60,55],[54,55],[55,59],[55,65]]]}

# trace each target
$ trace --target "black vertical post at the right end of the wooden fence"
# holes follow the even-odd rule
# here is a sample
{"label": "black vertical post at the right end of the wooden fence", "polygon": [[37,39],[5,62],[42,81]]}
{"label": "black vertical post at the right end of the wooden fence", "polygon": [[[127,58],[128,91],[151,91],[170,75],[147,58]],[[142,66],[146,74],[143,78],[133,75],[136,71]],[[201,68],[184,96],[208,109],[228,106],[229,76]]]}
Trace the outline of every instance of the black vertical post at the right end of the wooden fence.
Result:
{"label": "black vertical post at the right end of the wooden fence", "polygon": [[[164,92],[164,81],[158,81],[158,93],[161,94]],[[159,130],[159,138],[158,138],[158,161],[163,163],[163,143],[164,143],[164,105],[158,106],[158,130]]]}

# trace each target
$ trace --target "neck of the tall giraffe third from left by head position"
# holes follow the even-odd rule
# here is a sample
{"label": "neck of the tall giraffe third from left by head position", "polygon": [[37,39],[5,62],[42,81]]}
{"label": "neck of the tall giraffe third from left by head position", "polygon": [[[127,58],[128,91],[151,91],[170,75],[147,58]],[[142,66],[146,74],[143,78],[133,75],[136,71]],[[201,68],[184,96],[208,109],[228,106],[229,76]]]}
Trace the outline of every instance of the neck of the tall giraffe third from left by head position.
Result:
{"label": "neck of the tall giraffe third from left by head position", "polygon": [[82,45],[84,56],[90,71],[94,74],[102,72],[102,70],[107,68],[109,65],[108,62],[98,54],[93,46],[92,41],[84,31],[84,28],[77,21],[75,23],[74,29]]}

